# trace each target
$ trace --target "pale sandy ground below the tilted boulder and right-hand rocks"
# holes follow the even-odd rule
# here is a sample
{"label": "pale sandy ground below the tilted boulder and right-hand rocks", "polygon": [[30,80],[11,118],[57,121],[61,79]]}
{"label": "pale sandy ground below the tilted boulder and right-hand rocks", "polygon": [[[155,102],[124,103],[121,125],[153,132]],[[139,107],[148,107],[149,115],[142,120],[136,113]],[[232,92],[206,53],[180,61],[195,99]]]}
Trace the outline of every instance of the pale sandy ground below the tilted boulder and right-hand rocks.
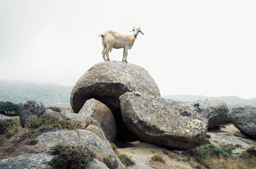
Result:
{"label": "pale sandy ground below the tilted boulder and right-hand rocks", "polygon": [[[211,136],[209,141],[219,147],[240,143],[242,146],[233,150],[233,155],[231,155],[233,158],[238,158],[240,152],[256,146],[256,140],[247,138],[233,124],[227,123],[223,127],[208,130],[207,134]],[[135,164],[130,166],[130,169],[195,169],[200,165],[187,151],[170,151],[153,144],[140,142],[130,144],[116,142],[116,146],[119,147],[120,153],[132,156]],[[165,164],[151,161],[151,157],[158,154],[166,160]],[[203,168],[205,167],[201,166],[201,169]]]}

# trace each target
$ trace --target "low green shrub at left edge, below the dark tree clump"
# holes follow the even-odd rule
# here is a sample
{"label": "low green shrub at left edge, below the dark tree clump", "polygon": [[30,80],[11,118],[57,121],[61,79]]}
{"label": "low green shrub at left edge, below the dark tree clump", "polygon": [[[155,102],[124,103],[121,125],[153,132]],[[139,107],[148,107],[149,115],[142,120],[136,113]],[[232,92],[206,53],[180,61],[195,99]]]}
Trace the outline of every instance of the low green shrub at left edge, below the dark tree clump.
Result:
{"label": "low green shrub at left edge, below the dark tree clump", "polygon": [[0,119],[0,135],[6,134],[11,128],[17,128],[19,123],[17,118]]}

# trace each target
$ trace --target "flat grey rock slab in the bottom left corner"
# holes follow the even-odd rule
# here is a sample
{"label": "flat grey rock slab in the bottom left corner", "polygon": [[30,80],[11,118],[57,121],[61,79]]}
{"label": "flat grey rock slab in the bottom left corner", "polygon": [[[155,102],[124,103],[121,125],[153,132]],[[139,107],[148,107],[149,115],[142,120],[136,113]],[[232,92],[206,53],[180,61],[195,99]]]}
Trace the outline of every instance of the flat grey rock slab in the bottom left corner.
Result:
{"label": "flat grey rock slab in the bottom left corner", "polygon": [[0,159],[0,169],[52,169],[48,163],[52,159],[53,155],[47,153],[20,155]]}

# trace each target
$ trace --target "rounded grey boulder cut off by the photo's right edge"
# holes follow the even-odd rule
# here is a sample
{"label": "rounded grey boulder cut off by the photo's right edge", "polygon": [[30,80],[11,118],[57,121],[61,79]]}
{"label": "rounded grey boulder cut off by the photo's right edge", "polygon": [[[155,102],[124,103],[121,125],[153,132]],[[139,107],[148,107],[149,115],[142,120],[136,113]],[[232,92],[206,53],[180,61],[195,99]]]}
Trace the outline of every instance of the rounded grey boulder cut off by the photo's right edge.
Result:
{"label": "rounded grey boulder cut off by the photo's right edge", "polygon": [[256,138],[256,107],[236,107],[229,111],[228,119],[245,135]]}

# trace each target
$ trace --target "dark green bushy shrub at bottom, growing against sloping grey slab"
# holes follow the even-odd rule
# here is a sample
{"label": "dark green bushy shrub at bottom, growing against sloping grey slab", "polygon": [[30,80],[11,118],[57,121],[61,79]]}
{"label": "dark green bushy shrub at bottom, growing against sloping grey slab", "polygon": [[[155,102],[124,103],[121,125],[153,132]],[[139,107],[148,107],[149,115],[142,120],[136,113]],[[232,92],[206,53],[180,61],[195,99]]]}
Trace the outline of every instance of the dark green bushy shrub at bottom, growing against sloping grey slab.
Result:
{"label": "dark green bushy shrub at bottom, growing against sloping grey slab", "polygon": [[84,164],[95,157],[95,153],[83,146],[55,144],[52,150],[52,154],[57,156],[49,163],[57,169],[81,169]]}

